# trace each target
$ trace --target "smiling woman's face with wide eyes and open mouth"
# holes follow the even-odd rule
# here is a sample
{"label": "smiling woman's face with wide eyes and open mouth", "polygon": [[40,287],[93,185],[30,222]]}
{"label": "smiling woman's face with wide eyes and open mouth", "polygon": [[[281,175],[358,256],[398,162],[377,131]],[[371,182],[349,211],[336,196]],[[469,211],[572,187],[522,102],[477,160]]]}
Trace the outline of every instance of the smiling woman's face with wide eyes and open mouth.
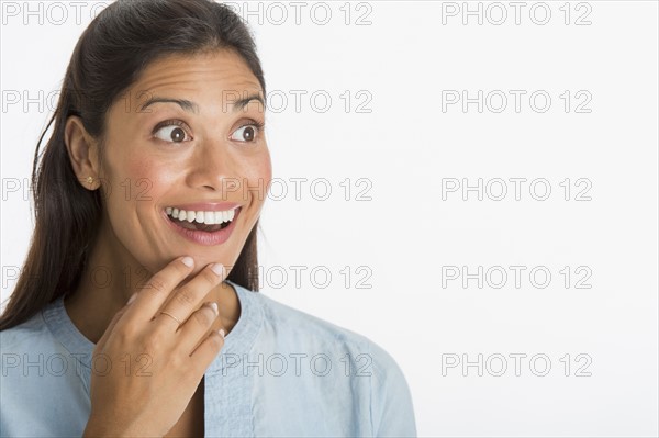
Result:
{"label": "smiling woman's face with wide eyes and open mouth", "polygon": [[[263,100],[233,52],[170,56],[146,68],[108,112],[99,177],[104,235],[115,237],[115,249],[152,272],[185,255],[196,271],[235,263],[271,180]],[[174,209],[187,217],[174,221]],[[219,233],[181,229],[202,226],[200,215],[234,218]]]}

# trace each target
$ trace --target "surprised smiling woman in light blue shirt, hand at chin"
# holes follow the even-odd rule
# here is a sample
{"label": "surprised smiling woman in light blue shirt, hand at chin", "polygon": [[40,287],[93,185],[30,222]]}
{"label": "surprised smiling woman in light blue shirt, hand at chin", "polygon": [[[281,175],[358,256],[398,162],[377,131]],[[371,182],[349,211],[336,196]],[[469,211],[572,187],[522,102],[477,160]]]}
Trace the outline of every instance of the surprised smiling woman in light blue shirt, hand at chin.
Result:
{"label": "surprised smiling woman in light blue shirt, hand at chin", "polygon": [[265,96],[213,1],[119,0],[86,30],[0,319],[0,435],[416,435],[390,355],[256,293]]}

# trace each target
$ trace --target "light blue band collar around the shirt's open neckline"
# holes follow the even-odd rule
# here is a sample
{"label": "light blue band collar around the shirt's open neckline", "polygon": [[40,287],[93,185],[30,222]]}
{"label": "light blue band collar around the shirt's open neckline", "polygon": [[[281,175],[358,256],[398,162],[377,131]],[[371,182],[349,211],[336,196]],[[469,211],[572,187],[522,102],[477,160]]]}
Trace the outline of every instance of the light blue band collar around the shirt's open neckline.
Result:
{"label": "light blue band collar around the shirt's open neckline", "polygon": [[[206,370],[215,373],[225,367],[223,355],[238,355],[252,349],[263,325],[264,311],[260,296],[233,281],[226,280],[233,287],[241,304],[241,316],[232,330],[226,335],[224,347]],[[91,358],[96,344],[87,339],[74,325],[64,306],[64,295],[49,303],[42,311],[46,326],[55,338],[75,357],[83,367],[91,370]]]}

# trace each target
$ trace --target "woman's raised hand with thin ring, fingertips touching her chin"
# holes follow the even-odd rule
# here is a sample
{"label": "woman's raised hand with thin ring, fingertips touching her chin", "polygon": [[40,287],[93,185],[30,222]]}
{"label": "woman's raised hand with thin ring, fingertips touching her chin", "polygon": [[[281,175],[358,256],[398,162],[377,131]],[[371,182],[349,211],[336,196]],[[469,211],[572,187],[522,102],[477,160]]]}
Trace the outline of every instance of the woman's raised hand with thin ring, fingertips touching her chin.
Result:
{"label": "woman's raised hand with thin ring, fingertips touching her chin", "polygon": [[175,289],[193,269],[176,259],[116,313],[93,350],[85,437],[161,437],[178,422],[224,346],[222,335],[209,334],[217,313],[200,306],[225,278],[215,267],[220,274],[209,265]]}

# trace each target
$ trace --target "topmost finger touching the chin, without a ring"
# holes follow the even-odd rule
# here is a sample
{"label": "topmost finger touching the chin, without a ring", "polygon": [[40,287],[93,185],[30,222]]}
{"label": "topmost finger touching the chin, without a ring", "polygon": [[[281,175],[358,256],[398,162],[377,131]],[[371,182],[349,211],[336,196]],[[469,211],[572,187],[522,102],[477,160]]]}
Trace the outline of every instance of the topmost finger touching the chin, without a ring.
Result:
{"label": "topmost finger touching the chin, without a ring", "polygon": [[135,300],[129,306],[126,311],[129,318],[152,321],[171,291],[192,272],[194,262],[191,257],[179,257],[156,272],[144,288],[139,289]]}

